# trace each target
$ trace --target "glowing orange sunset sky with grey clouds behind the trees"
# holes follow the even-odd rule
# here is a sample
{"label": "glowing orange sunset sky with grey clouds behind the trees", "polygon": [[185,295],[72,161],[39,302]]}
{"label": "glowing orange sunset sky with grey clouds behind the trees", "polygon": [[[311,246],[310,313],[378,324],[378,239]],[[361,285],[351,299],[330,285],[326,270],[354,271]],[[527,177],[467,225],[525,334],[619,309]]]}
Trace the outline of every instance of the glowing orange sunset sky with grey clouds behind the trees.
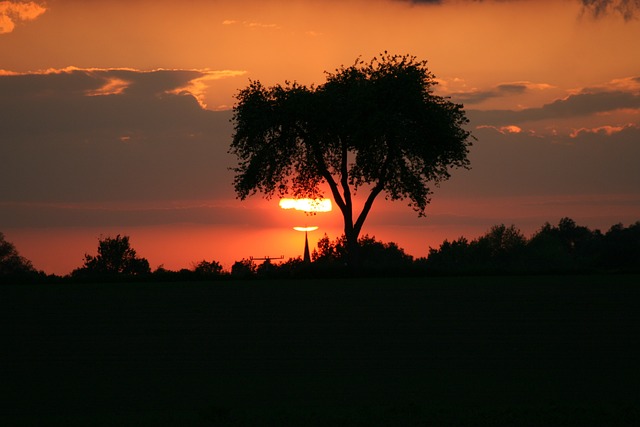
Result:
{"label": "glowing orange sunset sky with grey clouds behind the trees", "polygon": [[[587,6],[585,6],[587,4]],[[463,103],[469,171],[427,217],[374,204],[363,233],[426,256],[492,225],[640,220],[640,0],[0,1],[0,231],[47,273],[126,234],[152,269],[302,255],[278,200],[235,199],[234,94],[324,82],[388,51]]]}

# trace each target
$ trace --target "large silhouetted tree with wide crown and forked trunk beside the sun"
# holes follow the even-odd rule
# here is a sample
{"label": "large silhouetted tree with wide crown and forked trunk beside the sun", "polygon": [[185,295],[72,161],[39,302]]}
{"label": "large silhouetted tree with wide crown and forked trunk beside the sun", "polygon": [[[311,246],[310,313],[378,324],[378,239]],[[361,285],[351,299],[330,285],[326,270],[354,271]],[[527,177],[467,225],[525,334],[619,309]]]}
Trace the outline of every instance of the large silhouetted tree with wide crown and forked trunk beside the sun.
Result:
{"label": "large silhouetted tree with wide crown and forked trunk beside the sun", "polygon": [[[447,180],[451,168],[469,167],[463,106],[433,94],[426,64],[385,52],[327,72],[319,86],[252,81],[234,106],[238,197],[319,197],[326,184],[356,266],[360,231],[380,193],[409,199],[424,215],[430,186]],[[353,195],[362,188],[368,195],[358,213]]]}

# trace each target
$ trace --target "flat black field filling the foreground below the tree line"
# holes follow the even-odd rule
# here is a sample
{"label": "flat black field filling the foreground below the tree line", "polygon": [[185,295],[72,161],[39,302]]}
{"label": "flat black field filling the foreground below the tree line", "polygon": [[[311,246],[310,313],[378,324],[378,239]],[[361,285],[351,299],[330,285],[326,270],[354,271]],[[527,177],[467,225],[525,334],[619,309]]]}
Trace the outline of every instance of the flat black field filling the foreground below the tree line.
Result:
{"label": "flat black field filling the foreground below the tree line", "polygon": [[639,279],[0,286],[0,425],[640,425]]}

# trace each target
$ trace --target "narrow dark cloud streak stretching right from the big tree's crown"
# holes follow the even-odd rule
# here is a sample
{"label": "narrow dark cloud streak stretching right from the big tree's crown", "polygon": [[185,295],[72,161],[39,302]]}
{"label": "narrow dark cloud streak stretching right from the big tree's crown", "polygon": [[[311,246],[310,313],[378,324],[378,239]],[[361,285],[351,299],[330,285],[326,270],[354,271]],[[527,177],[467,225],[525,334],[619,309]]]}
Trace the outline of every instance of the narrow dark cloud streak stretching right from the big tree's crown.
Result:
{"label": "narrow dark cloud streak stretching right from the big tree's crown", "polygon": [[623,90],[583,92],[542,107],[523,110],[470,110],[476,125],[505,126],[524,122],[588,116],[623,108],[640,108],[640,95]]}

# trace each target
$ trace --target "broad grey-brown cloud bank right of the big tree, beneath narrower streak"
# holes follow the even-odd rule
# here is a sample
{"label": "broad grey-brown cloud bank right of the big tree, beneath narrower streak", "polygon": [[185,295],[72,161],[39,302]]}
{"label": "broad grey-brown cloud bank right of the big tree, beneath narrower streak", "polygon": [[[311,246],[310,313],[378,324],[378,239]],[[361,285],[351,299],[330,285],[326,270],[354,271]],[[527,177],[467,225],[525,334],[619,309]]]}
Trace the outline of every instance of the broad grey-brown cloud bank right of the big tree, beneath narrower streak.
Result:
{"label": "broad grey-brown cloud bank right of the big tree, beneath narrower streak", "polygon": [[[442,192],[457,196],[637,194],[640,127],[541,137],[474,130],[471,170],[454,174]],[[440,190],[439,190],[440,191]]]}

